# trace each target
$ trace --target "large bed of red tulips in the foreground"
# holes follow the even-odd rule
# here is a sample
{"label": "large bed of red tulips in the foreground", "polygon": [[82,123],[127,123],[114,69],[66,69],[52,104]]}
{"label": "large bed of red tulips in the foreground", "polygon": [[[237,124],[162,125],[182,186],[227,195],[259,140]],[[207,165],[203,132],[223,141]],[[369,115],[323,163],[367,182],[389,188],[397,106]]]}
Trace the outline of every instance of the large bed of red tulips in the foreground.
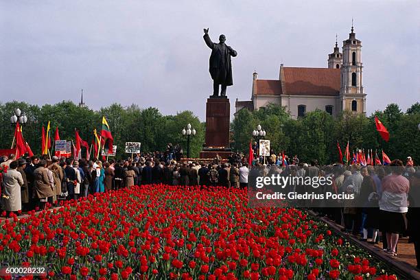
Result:
{"label": "large bed of red tulips in the foreground", "polygon": [[222,187],[96,194],[5,220],[0,241],[0,266],[48,279],[396,279],[304,211],[248,208]]}

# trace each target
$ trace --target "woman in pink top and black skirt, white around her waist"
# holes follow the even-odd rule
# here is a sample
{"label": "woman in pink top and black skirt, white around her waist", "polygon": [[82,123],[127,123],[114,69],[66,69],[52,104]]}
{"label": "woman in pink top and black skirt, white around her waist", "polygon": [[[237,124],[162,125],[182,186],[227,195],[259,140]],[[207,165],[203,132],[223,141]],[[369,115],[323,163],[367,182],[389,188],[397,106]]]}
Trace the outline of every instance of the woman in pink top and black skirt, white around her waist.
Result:
{"label": "woman in pink top and black skirt, white around her waist", "polygon": [[[395,159],[390,163],[392,174],[382,181],[382,197],[380,199],[381,227],[386,233],[388,248],[384,251],[396,256],[399,234],[406,232],[406,213],[408,211],[408,191],[410,183],[402,176],[404,163]],[[392,221],[392,222],[390,222]]]}

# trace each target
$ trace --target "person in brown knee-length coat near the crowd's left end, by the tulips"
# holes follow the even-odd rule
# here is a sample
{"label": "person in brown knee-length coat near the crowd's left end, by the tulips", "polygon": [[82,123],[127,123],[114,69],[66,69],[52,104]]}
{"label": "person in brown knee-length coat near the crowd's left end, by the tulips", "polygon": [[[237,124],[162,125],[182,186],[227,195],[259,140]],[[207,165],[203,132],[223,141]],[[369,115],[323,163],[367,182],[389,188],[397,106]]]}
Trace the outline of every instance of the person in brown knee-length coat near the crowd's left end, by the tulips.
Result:
{"label": "person in brown knee-length coat near the crowd's left end, by the tulips", "polygon": [[53,202],[53,196],[56,195],[54,189],[54,178],[51,178],[50,172],[47,169],[47,161],[42,159],[38,163],[38,167],[34,171],[34,198],[38,200],[40,209],[45,209],[47,203]]}

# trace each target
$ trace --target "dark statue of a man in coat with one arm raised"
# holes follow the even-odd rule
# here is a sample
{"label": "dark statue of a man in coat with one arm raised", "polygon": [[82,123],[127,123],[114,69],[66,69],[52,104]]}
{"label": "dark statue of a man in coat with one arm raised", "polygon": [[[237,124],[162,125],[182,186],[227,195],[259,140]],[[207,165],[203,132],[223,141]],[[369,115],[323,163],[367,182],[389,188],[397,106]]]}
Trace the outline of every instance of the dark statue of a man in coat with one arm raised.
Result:
{"label": "dark statue of a man in coat with one arm raised", "polygon": [[216,44],[211,42],[209,28],[204,32],[205,42],[211,49],[209,71],[213,79],[213,96],[219,95],[219,84],[222,86],[220,96],[226,96],[226,86],[233,84],[231,56],[235,57],[237,53],[224,43],[226,37],[223,34],[219,36],[219,43]]}

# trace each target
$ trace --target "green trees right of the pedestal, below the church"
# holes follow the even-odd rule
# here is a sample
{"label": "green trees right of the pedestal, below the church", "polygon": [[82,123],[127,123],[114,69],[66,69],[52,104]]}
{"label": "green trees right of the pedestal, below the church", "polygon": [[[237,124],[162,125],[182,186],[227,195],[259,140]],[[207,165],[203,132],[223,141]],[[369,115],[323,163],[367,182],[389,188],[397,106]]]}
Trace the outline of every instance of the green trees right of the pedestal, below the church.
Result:
{"label": "green trees right of the pedestal, below the church", "polygon": [[[386,126],[390,133],[388,142],[384,141],[375,127],[375,116]],[[354,114],[349,111],[337,117],[323,110],[314,110],[304,117],[292,119],[285,107],[268,104],[250,112],[243,109],[233,120],[233,148],[245,151],[250,141],[256,141],[252,131],[257,125],[266,130],[265,139],[275,152],[285,151],[299,159],[309,162],[317,159],[319,163],[339,162],[337,141],[344,154],[347,141],[350,152],[356,149],[381,150],[390,159],[406,159],[412,156],[420,161],[420,103],[413,104],[402,112],[397,104],[389,104],[385,110],[377,110],[370,116]]]}

